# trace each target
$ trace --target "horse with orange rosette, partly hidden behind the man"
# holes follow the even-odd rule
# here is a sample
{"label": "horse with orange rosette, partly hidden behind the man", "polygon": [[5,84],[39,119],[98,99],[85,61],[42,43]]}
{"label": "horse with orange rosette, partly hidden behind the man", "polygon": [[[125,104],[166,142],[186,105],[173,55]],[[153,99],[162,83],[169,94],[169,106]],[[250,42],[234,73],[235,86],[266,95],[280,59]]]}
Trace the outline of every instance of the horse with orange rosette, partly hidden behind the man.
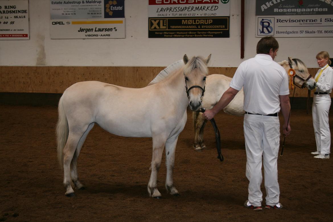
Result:
{"label": "horse with orange rosette, partly hidden behind the man", "polygon": [[[287,73],[290,73],[290,71],[294,72],[295,75],[292,76],[293,79],[290,80],[289,78],[289,81],[292,81],[296,86],[300,88],[307,87],[310,90],[315,88],[316,81],[309,74],[308,69],[301,60],[288,57],[288,60],[280,61],[278,64],[280,64]],[[205,96],[202,98],[202,104],[205,109],[213,108],[220,100],[222,94],[229,88],[230,81],[231,78],[219,74],[212,74],[207,77]],[[243,90],[241,90],[223,111],[232,115],[243,115],[243,99],[244,94]],[[194,124],[193,148],[196,151],[201,151],[206,148],[203,143],[203,130],[207,121],[202,117],[202,113],[198,111],[192,113],[192,118]]]}

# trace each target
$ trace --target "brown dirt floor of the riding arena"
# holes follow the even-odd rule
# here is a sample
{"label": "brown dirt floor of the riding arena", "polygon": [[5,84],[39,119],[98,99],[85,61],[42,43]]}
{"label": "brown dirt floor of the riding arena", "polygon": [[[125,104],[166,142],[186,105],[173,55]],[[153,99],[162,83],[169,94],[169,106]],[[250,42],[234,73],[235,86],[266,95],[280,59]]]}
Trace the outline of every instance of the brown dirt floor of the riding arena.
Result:
{"label": "brown dirt floor of the riding arena", "polygon": [[[243,206],[248,194],[243,117],[219,113],[215,120],[224,162],[216,158],[210,123],[207,149],[193,150],[188,112],[175,154],[173,181],[180,196],[166,193],[163,157],[162,199],[147,192],[151,138],[119,137],[96,125],[78,162],[86,189],[69,198],[57,162],[57,108],[1,105],[0,221],[333,221],[333,156],[322,160],[310,154],[316,150],[311,113],[292,111],[292,134],[278,159],[284,208],[260,212]],[[333,132],[332,112],[330,125]],[[262,191],[265,195],[263,186]]]}

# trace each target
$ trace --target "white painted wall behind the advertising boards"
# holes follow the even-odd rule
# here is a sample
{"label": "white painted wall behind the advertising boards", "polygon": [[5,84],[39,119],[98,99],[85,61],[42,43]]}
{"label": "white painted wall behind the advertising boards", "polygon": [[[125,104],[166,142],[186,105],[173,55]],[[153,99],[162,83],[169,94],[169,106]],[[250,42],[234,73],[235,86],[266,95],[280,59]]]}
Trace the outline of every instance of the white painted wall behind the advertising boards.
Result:
{"label": "white painted wall behind the advertising boards", "polygon": [[[245,1],[245,58],[240,59],[240,0],[230,0],[230,38],[148,38],[148,1],[126,0],[125,39],[50,39],[50,1],[29,0],[30,40],[1,40],[0,66],[167,66],[188,56],[212,54],[212,67],[238,67],[256,53],[255,0]],[[333,37],[277,38],[276,61],[288,56],[318,67],[315,56]]]}

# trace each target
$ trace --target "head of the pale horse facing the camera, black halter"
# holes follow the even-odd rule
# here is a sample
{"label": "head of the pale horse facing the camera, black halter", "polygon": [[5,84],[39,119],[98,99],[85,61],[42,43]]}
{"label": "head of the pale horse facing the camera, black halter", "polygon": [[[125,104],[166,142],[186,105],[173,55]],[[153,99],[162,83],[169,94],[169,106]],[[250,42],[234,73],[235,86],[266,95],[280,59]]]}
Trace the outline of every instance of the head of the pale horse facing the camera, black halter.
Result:
{"label": "head of the pale horse facing the camera, black halter", "polygon": [[202,57],[188,59],[185,54],[183,57],[185,87],[188,103],[192,111],[198,111],[201,106],[206,76],[208,75],[207,63],[210,60],[210,56],[211,54],[206,59]]}

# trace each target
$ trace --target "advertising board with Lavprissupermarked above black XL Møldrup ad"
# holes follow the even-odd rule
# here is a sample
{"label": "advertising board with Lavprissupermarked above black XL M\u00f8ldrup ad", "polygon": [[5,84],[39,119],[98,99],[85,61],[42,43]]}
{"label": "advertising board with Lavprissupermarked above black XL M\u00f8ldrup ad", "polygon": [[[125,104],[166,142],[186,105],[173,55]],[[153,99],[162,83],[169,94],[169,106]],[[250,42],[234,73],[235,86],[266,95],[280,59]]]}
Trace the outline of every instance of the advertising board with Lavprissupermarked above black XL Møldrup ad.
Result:
{"label": "advertising board with Lavprissupermarked above black XL M\u00f8ldrup ad", "polygon": [[229,0],[149,0],[149,38],[229,38]]}

